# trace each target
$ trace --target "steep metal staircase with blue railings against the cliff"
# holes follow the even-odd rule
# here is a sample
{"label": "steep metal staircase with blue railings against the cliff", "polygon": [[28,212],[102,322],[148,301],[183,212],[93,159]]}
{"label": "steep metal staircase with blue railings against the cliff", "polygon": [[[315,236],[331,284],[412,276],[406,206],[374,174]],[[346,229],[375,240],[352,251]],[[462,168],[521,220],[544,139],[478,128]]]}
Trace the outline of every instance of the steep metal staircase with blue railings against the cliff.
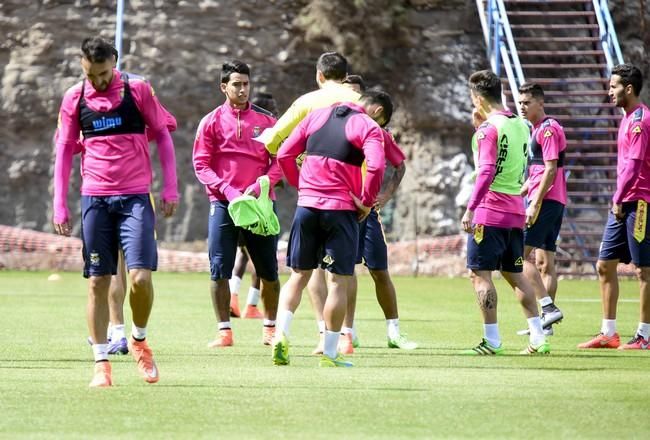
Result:
{"label": "steep metal staircase with blue railings against the cliff", "polygon": [[606,0],[476,0],[492,70],[504,78],[504,102],[518,87],[544,88],[546,113],[567,137],[569,201],[557,252],[558,273],[593,274],[616,186],[621,112],[607,95],[622,63]]}

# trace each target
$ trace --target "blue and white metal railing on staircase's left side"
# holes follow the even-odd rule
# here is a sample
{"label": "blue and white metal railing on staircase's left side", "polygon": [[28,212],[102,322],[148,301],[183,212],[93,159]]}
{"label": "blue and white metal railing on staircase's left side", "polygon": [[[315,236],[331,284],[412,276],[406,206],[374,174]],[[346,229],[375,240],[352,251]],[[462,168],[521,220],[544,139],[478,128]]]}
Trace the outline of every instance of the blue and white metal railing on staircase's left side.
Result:
{"label": "blue and white metal railing on staircase's left side", "polygon": [[[519,101],[519,86],[526,82],[526,79],[510,30],[505,4],[503,0],[476,0],[476,7],[492,71],[497,76],[501,76],[502,69],[505,71],[512,98],[516,103]],[[505,104],[505,96],[503,101]]]}

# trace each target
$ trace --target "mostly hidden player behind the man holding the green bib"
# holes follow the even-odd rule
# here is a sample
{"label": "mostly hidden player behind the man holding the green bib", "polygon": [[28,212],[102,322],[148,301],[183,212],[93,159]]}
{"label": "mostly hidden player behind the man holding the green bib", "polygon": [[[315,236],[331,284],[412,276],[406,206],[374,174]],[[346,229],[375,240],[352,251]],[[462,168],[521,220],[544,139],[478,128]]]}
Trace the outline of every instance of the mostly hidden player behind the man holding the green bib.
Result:
{"label": "mostly hidden player behind the man holding the green bib", "polygon": [[[273,98],[273,95],[265,92],[257,92],[251,98],[251,104],[268,110],[273,117],[278,115],[278,106]],[[281,184],[281,182],[280,182]],[[233,318],[248,318],[248,319],[263,319],[264,315],[257,307],[260,301],[260,277],[257,276],[255,270],[251,273],[251,285],[248,288],[248,296],[246,297],[246,307],[244,312],[239,310],[239,288],[241,286],[242,277],[246,272],[246,266],[250,260],[246,246],[244,245],[243,238],[239,237],[239,246],[237,247],[237,256],[235,257],[235,267],[233,268],[233,276],[228,282],[230,286],[230,316]]]}

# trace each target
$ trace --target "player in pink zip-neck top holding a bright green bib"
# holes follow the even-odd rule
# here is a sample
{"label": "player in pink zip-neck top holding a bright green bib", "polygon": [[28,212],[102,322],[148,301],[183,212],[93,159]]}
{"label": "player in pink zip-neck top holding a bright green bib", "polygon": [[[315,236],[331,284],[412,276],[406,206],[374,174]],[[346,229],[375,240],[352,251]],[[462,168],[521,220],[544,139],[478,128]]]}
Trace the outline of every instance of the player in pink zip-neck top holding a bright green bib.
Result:
{"label": "player in pink zip-neck top holding a bright green bib", "polygon": [[[226,102],[201,120],[194,141],[193,163],[196,177],[210,198],[208,254],[210,257],[210,294],[217,318],[217,337],[209,347],[233,345],[230,325],[230,287],[238,237],[243,236],[255,272],[262,280],[264,329],[262,342],[269,345],[275,332],[275,315],[280,282],[278,280],[277,236],[262,236],[235,226],[228,205],[249,193],[259,195],[257,179],[267,175],[271,188],[282,178],[275,156],[253,138],[275,118],[270,112],[252,105],[250,68],[239,60],[222,65],[221,92]],[[271,189],[271,198],[275,198]]]}

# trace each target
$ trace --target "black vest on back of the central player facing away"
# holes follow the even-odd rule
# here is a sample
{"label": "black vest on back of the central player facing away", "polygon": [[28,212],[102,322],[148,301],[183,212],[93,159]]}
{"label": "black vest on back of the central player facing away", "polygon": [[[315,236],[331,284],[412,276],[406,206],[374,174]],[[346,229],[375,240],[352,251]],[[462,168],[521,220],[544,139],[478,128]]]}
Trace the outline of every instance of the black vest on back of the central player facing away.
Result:
{"label": "black vest on back of the central player facing away", "polygon": [[307,155],[329,157],[361,167],[365,160],[363,151],[352,145],[345,136],[348,119],[357,113],[357,110],[345,105],[334,107],[327,122],[307,138]]}

